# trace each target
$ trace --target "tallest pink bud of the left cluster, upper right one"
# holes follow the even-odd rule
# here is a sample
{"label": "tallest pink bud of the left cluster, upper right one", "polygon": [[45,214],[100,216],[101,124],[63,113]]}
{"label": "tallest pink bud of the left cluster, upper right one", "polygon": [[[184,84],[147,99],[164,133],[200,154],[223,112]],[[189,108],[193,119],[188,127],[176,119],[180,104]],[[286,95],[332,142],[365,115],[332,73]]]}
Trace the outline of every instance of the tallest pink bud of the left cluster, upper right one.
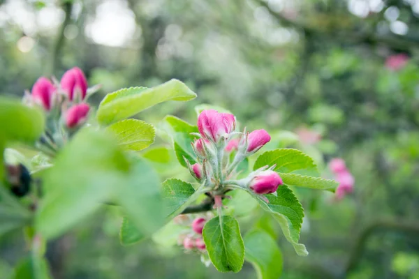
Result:
{"label": "tallest pink bud of the left cluster, upper right one", "polygon": [[74,100],[76,94],[80,94],[80,99],[84,100],[87,93],[87,80],[80,68],[74,67],[61,77],[61,88],[66,92],[68,99]]}

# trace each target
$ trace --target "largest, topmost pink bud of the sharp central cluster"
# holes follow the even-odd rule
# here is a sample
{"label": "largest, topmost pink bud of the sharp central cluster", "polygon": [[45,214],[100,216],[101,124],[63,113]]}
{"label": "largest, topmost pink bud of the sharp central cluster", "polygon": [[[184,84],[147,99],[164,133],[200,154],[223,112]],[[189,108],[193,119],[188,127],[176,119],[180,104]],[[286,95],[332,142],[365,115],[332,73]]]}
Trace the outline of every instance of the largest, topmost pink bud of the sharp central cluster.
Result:
{"label": "largest, topmost pink bud of the sharp central cluster", "polygon": [[235,129],[233,114],[219,113],[216,110],[203,110],[198,116],[199,133],[213,142],[227,137]]}

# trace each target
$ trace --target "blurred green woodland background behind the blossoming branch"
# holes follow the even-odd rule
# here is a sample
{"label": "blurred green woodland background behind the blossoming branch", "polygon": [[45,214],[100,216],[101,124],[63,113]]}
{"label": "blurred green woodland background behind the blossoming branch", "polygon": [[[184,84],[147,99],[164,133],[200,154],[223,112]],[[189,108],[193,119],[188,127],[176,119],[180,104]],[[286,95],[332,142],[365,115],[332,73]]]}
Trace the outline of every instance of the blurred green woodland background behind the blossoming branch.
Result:
{"label": "blurred green woodland background behind the blossoming branch", "polygon": [[[1,94],[20,98],[73,66],[102,84],[96,105],[177,78],[198,98],[140,119],[194,123],[193,107],[219,105],[281,146],[297,135],[323,167],[344,158],[354,193],[298,190],[310,254],[298,257],[278,234],[281,278],[419,278],[418,62],[418,0],[0,0]],[[222,274],[152,241],[122,247],[119,223],[103,209],[51,243],[55,277],[256,278],[250,264]],[[25,249],[20,232],[0,239],[1,278]]]}

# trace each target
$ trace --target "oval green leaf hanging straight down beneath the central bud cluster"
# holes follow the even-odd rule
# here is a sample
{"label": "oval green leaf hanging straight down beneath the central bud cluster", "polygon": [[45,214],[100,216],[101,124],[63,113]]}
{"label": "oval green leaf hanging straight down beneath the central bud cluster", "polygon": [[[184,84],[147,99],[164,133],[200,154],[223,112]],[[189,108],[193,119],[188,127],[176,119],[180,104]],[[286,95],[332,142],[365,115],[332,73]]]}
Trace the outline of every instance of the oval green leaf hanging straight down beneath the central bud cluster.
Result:
{"label": "oval green leaf hanging straight down beneath the central bud cluster", "polygon": [[203,229],[203,239],[212,264],[221,272],[242,269],[244,244],[239,223],[231,216],[217,216],[208,221]]}

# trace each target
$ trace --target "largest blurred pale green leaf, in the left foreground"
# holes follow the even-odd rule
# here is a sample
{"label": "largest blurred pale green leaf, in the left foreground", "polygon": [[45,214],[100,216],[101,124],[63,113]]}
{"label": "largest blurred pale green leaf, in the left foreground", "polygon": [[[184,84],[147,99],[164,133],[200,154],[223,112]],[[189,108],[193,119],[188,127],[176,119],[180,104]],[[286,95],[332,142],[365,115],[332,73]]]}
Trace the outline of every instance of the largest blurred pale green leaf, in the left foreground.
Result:
{"label": "largest blurred pale green leaf, in the left foreground", "polygon": [[112,135],[80,130],[43,176],[45,197],[35,218],[46,239],[93,213],[126,182],[129,163]]}

